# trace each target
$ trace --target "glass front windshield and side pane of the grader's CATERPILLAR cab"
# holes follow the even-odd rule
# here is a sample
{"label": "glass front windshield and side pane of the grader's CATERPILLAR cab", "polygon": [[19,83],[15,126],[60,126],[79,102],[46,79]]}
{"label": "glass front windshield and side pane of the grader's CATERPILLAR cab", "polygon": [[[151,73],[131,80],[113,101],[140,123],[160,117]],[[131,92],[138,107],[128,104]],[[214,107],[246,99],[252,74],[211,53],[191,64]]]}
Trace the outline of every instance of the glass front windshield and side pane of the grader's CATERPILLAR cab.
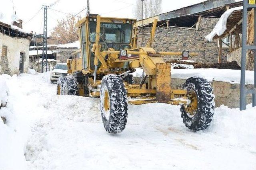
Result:
{"label": "glass front windshield and side pane of the grader's CATERPILLAR cab", "polygon": [[[96,22],[90,21],[90,42],[96,39]],[[100,42],[129,44],[132,37],[132,24],[129,23],[100,23]]]}

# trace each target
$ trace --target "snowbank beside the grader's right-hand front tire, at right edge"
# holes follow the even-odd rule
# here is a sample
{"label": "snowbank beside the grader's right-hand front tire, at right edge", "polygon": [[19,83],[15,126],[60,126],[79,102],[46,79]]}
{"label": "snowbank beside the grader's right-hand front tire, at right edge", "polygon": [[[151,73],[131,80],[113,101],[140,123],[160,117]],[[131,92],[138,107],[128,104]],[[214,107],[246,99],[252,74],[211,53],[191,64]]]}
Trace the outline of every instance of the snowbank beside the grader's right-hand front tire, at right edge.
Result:
{"label": "snowbank beside the grader's right-hand front tire, at right edge", "polygon": [[214,119],[204,132],[218,134],[231,145],[244,145],[256,151],[256,107],[247,106],[245,111],[227,106],[216,108]]}

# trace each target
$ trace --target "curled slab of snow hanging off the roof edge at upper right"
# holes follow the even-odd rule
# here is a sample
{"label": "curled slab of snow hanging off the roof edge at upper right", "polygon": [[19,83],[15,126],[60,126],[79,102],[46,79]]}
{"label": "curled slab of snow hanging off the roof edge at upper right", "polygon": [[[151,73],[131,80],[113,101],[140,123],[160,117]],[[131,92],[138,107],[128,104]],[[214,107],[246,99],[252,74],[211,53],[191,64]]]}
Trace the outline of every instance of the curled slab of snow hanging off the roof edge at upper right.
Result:
{"label": "curled slab of snow hanging off the roof edge at upper right", "polygon": [[224,12],[224,14],[222,14],[222,16],[220,17],[220,20],[218,21],[218,23],[215,25],[214,29],[212,30],[212,32],[208,35],[205,36],[205,38],[208,41],[212,41],[213,37],[215,35],[222,35],[226,29],[227,29],[227,20],[228,17],[236,10],[242,10],[243,7],[239,6],[236,8],[231,8],[229,10],[227,10],[226,12]]}

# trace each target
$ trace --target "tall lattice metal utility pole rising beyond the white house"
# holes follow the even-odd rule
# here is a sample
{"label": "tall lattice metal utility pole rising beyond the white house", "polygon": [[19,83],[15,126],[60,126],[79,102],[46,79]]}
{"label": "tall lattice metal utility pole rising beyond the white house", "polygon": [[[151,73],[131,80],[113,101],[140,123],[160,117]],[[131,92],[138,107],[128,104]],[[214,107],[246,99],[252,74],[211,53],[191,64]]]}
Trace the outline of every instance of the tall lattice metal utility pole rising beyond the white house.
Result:
{"label": "tall lattice metal utility pole rising beyond the white house", "polygon": [[[47,72],[47,8],[44,7],[44,34],[43,34],[43,52],[42,52],[42,72]],[[45,61],[44,61],[45,60]]]}

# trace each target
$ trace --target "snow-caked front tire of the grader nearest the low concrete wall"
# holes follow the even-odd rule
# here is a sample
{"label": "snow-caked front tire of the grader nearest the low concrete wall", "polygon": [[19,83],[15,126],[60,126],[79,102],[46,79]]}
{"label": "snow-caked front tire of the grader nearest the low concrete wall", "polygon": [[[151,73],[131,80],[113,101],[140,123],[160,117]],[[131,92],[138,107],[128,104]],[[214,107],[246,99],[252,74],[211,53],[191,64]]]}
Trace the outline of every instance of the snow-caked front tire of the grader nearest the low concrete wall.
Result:
{"label": "snow-caked front tire of the grader nearest the low concrete wall", "polygon": [[186,80],[183,89],[194,94],[194,96],[196,96],[195,103],[197,103],[197,105],[195,104],[197,107],[193,113],[189,112],[187,109],[191,104],[181,106],[180,111],[183,123],[185,123],[188,129],[194,131],[206,129],[212,121],[215,107],[211,84],[204,78],[191,77]]}

